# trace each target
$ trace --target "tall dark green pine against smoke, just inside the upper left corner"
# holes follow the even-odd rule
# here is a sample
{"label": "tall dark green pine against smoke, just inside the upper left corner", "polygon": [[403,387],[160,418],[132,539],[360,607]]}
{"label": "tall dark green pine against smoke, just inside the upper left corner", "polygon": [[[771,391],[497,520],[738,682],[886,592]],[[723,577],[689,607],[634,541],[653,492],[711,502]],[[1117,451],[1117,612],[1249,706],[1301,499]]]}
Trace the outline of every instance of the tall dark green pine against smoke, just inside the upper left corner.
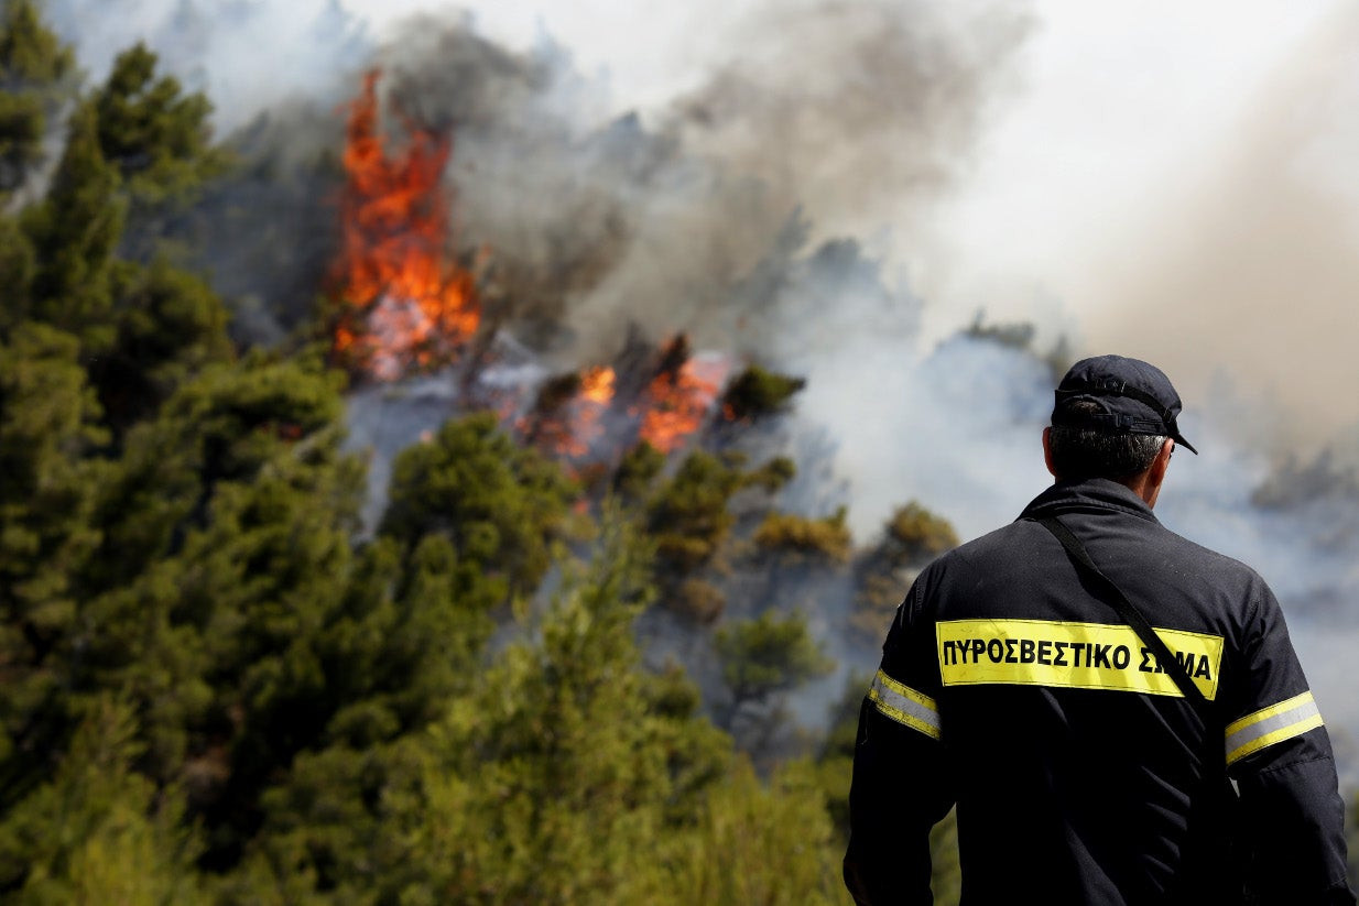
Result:
{"label": "tall dark green pine against smoke, just inside the upper left corner", "polygon": [[128,243],[129,204],[144,220],[155,204],[186,197],[222,170],[209,110],[173,77],[156,79],[145,48],[121,54],[107,83],[75,106],[48,196],[23,213],[33,254],[20,246],[0,253],[0,270],[31,270],[24,310],[79,336],[99,364],[92,379],[116,422],[143,414],[139,405],[152,409],[186,368],[226,353],[224,312],[201,281],[163,259],[143,270],[116,257]]}

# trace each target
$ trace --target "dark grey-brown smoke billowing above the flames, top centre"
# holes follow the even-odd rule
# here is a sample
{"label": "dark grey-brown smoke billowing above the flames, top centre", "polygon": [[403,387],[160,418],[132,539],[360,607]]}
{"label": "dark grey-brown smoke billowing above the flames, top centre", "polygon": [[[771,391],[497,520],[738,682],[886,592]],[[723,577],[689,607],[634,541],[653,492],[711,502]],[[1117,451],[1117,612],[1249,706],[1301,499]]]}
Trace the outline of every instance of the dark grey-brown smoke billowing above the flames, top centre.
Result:
{"label": "dark grey-brown smoke billowing above the flames, top centre", "polygon": [[400,109],[455,126],[461,219],[496,250],[496,289],[537,307],[520,316],[560,312],[579,356],[628,323],[761,353],[786,326],[779,274],[750,277],[790,221],[818,240],[904,228],[962,170],[1026,22],[999,4],[765,5],[705,84],[609,122],[550,43],[515,54],[424,18],[381,60]]}

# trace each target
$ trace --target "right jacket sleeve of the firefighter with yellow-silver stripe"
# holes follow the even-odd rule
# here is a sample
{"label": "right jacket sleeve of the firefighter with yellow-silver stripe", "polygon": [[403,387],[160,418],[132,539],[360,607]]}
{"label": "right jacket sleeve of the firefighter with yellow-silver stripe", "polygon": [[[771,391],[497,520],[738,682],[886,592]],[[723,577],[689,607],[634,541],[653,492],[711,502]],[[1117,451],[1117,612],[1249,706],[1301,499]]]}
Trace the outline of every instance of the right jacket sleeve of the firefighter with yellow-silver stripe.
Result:
{"label": "right jacket sleeve of the firefighter with yellow-silver stripe", "polygon": [[1249,888],[1265,903],[1354,903],[1330,738],[1267,587],[1245,626],[1239,678],[1224,702],[1224,750]]}

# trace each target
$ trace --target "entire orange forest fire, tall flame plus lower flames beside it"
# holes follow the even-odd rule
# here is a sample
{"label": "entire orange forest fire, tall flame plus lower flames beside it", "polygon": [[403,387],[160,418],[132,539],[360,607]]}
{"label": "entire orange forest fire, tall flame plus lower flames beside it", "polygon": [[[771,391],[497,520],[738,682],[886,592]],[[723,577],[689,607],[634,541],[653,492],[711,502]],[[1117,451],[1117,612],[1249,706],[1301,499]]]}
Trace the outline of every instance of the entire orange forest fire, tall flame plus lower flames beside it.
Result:
{"label": "entire orange forest fire, tall flame plus lower flames beside it", "polygon": [[[406,122],[405,149],[389,152],[378,80],[376,71],[367,73],[348,106],[344,240],[336,265],[345,308],[334,352],[371,378],[398,380],[451,364],[477,333],[481,307],[473,276],[454,264],[450,242],[451,192],[442,175],[451,137]],[[478,345],[482,353],[493,346],[489,338]],[[493,360],[470,355],[463,386],[478,384]],[[703,427],[727,371],[724,359],[693,356],[684,334],[659,348],[633,337],[616,365],[549,378],[531,405],[525,405],[525,386],[480,395],[525,443],[564,459],[613,459],[637,440],[669,454]],[[476,406],[474,398],[461,402]]]}

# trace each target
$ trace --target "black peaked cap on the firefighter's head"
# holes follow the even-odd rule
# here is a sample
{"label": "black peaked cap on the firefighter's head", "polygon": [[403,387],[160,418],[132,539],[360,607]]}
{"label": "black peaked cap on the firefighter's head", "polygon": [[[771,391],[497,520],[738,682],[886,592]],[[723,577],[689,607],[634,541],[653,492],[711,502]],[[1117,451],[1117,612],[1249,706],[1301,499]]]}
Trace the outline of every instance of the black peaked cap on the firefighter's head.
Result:
{"label": "black peaked cap on the firefighter's head", "polygon": [[[1099,412],[1071,412],[1071,399],[1089,399]],[[1161,368],[1124,356],[1083,359],[1057,384],[1052,424],[1067,428],[1097,428],[1133,435],[1165,435],[1197,454],[1176,427],[1180,394]]]}

